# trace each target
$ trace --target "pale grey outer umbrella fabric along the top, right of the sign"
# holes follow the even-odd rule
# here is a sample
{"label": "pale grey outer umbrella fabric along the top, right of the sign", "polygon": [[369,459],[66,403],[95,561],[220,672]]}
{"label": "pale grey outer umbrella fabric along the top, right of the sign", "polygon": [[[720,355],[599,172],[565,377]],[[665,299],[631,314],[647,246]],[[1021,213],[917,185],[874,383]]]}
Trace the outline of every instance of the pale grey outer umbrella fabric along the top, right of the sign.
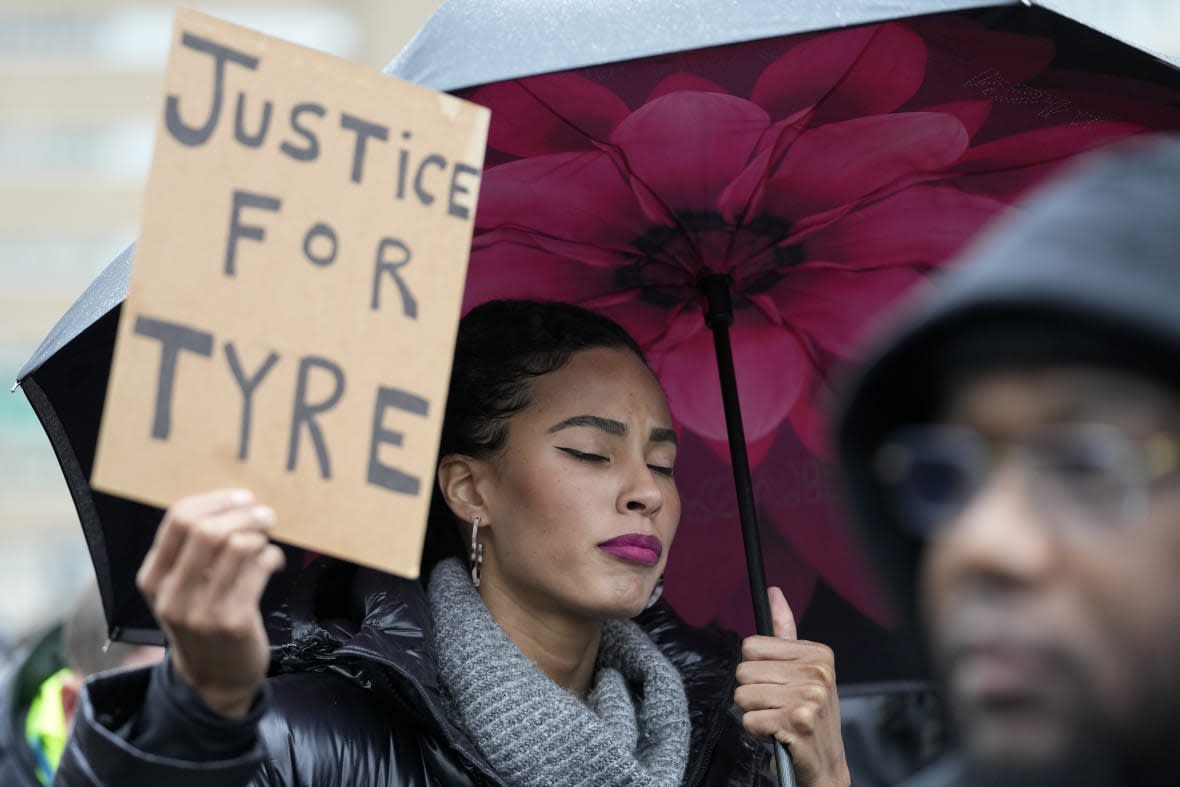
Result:
{"label": "pale grey outer umbrella fabric along the top, right of the sign", "polygon": [[[1069,17],[1068,0],[1023,6]],[[774,35],[977,8],[1027,14],[1022,0],[450,0],[386,73],[454,91]],[[1109,47],[1106,47],[1109,48]],[[1153,57],[1180,67],[1180,58]]]}

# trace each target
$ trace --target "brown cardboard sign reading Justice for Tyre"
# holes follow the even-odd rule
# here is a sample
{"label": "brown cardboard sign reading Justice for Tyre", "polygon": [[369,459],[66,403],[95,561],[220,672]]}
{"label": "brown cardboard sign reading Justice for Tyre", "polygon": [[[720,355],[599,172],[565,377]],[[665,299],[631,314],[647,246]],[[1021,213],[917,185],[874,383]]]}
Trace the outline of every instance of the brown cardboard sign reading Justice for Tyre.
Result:
{"label": "brown cardboard sign reading Justice for Tyre", "polygon": [[489,112],[176,15],[92,484],[418,573]]}

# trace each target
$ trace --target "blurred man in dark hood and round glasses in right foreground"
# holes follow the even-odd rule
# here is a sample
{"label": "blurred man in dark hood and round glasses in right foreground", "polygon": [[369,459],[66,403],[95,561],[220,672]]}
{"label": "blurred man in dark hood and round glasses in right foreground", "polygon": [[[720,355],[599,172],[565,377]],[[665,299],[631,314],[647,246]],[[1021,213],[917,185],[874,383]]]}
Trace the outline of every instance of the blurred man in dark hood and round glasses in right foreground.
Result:
{"label": "blurred man in dark hood and round glasses in right foreground", "polygon": [[898,328],[838,455],[950,781],[1180,783],[1180,140],[1087,162]]}

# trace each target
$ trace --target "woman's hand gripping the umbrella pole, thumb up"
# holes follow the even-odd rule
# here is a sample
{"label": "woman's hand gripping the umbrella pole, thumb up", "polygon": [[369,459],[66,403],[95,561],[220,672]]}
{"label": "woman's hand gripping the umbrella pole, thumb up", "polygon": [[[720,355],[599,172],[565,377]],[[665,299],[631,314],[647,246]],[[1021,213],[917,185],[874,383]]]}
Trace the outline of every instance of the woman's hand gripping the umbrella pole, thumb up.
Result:
{"label": "woman's hand gripping the umbrella pole, thumb up", "polygon": [[818,642],[800,641],[795,618],[771,588],[773,637],[747,637],[734,700],[746,732],[781,741],[791,750],[802,787],[847,787],[852,776],[840,735],[835,657]]}

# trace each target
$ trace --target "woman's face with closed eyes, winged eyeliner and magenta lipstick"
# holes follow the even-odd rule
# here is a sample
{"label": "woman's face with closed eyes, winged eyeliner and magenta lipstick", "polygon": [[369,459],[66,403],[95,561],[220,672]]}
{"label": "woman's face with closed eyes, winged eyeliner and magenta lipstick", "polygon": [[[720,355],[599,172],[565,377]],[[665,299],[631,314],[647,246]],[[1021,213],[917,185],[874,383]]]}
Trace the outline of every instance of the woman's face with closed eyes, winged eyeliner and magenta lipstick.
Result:
{"label": "woman's face with closed eyes, winged eyeliner and magenta lipstick", "polygon": [[481,463],[481,590],[537,612],[637,615],[680,522],[675,459],[668,402],[634,353],[583,350],[537,378]]}

